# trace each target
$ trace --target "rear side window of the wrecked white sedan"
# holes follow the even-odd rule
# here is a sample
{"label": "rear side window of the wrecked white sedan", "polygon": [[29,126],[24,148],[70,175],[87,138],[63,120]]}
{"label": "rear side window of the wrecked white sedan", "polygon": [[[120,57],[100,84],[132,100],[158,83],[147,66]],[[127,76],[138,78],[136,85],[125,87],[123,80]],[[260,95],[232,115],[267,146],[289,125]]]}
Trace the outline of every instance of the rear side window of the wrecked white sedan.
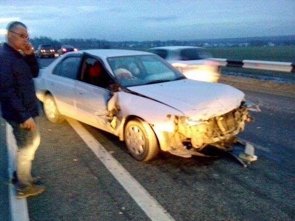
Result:
{"label": "rear side window of the wrecked white sedan", "polygon": [[60,76],[69,79],[77,79],[78,70],[80,67],[80,57],[68,57],[65,58],[60,66],[60,70],[57,73]]}

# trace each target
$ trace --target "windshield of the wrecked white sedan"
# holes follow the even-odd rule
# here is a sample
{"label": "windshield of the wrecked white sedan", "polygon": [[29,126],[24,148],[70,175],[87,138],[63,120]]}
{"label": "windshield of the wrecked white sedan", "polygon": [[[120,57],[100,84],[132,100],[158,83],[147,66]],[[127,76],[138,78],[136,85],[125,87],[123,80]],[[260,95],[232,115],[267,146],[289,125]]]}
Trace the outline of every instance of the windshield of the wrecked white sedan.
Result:
{"label": "windshield of the wrecked white sedan", "polygon": [[108,63],[123,87],[180,80],[185,77],[154,55],[108,58]]}

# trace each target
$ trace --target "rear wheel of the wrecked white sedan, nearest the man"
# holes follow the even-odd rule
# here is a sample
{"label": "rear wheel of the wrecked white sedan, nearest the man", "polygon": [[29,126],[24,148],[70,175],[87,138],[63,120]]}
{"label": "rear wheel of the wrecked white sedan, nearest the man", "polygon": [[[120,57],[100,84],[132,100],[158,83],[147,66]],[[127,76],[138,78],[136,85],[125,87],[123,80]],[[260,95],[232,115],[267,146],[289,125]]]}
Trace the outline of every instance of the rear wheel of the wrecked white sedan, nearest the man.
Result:
{"label": "rear wheel of the wrecked white sedan, nearest the man", "polygon": [[60,114],[55,101],[51,94],[46,94],[43,101],[43,109],[46,118],[52,123],[60,123],[64,120],[63,115]]}

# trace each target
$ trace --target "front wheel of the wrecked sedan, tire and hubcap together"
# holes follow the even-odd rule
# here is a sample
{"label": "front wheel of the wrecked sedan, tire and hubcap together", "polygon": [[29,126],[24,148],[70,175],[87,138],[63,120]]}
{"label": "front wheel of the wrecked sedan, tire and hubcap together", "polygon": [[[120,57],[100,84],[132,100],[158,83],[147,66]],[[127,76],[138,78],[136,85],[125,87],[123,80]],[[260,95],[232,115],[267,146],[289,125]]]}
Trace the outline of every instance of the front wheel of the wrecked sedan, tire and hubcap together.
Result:
{"label": "front wheel of the wrecked sedan, tire and hubcap together", "polygon": [[124,140],[131,155],[138,161],[150,161],[160,150],[154,131],[140,119],[127,122]]}

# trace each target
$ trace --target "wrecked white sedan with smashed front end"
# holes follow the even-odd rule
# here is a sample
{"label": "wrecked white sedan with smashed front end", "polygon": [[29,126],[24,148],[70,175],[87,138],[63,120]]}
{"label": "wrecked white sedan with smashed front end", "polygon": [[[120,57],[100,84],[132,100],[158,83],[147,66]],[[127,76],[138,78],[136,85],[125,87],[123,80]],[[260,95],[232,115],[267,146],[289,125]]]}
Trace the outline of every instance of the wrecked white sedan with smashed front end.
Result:
{"label": "wrecked white sedan with smashed front end", "polygon": [[160,57],[129,50],[67,53],[35,81],[47,119],[64,116],[126,142],[139,161],[159,150],[191,157],[207,146],[232,148],[258,106],[240,90],[190,80]]}

